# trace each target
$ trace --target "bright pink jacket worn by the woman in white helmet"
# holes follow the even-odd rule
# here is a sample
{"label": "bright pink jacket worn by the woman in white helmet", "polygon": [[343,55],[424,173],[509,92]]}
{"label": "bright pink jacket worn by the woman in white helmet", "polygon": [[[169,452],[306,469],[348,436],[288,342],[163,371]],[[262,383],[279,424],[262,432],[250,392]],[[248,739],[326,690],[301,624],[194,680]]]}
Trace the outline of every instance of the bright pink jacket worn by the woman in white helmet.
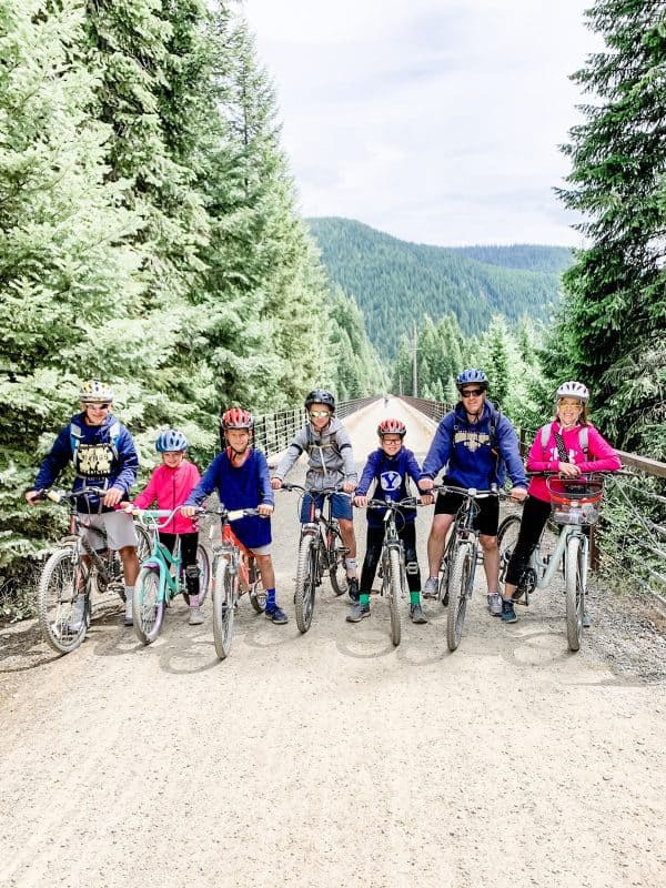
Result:
{"label": "bright pink jacket worn by the woman in white helmet", "polygon": [[[581,447],[581,441],[578,438],[581,428],[581,425],[575,425],[573,428],[567,428],[563,432],[557,420],[554,420],[551,427],[551,437],[548,438],[545,451],[542,447],[539,428],[529,448],[529,454],[527,455],[527,472],[557,472],[559,467],[559,456],[557,455],[555,432],[562,434],[569,462],[581,466],[581,471],[584,474],[588,472],[617,472],[622,468],[619,456],[617,456],[608,442],[605,441],[589,423],[587,424],[588,438],[586,455]],[[544,477],[532,478],[527,490],[529,496],[534,496],[536,500],[544,500],[546,503],[551,500]]]}

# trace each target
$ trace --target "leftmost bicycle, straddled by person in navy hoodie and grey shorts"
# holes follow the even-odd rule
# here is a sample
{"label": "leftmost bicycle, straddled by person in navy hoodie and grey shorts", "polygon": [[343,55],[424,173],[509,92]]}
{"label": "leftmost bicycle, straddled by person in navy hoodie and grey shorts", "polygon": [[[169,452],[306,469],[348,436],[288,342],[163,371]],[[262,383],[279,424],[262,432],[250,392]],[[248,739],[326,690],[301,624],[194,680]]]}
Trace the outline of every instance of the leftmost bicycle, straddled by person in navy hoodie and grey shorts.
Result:
{"label": "leftmost bicycle, straddled by person in navy hoodie and grey shorts", "polygon": [[[79,647],[91,616],[91,595],[93,589],[100,594],[108,591],[118,593],[124,602],[124,578],[118,552],[110,548],[95,551],[82,536],[85,523],[77,511],[77,500],[81,496],[103,496],[98,487],[82,487],[65,491],[39,491],[41,498],[57,504],[67,504],[70,509],[70,533],[63,536],[58,549],[44,564],[37,588],[37,614],[42,636],[54,650],[69,654]],[[94,528],[95,534],[105,537],[103,528]],[[139,558],[145,558],[151,549],[150,536],[141,526],[137,527]],[[79,599],[83,596],[83,609]]]}

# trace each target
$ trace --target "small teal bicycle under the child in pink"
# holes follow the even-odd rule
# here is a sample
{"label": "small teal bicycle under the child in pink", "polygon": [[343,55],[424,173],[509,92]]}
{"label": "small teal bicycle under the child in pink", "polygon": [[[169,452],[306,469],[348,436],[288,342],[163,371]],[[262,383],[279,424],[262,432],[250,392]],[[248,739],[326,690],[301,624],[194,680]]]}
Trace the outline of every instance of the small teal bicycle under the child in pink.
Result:
{"label": "small teal bicycle under the child in pink", "polygon": [[[182,566],[181,541],[176,537],[173,553],[160,542],[160,529],[167,527],[178,508],[134,509],[139,522],[148,524],[152,537],[150,555],[142,561],[134,589],[134,632],[140,642],[149,645],[155,640],[162,629],[164,613],[176,595],[183,595],[190,603],[185,586],[185,572]],[[160,524],[160,518],[164,521]],[[196,546],[196,566],[199,567],[199,604],[202,605],[210,585],[211,563],[204,546]]]}

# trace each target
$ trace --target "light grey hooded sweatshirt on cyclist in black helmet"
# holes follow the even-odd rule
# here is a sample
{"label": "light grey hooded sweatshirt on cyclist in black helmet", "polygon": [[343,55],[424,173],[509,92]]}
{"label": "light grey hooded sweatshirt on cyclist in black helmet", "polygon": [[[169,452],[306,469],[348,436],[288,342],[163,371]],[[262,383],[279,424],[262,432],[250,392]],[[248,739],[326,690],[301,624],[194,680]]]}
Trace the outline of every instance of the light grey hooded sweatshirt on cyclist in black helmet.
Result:
{"label": "light grey hooded sweatshirt on cyclist in black helmet", "polygon": [[331,417],[321,435],[316,434],[311,423],[301,428],[280,461],[273,477],[284,481],[284,476],[304,452],[309,457],[305,476],[309,487],[321,491],[346,482],[356,484],[359,481],[352,442],[336,416]]}

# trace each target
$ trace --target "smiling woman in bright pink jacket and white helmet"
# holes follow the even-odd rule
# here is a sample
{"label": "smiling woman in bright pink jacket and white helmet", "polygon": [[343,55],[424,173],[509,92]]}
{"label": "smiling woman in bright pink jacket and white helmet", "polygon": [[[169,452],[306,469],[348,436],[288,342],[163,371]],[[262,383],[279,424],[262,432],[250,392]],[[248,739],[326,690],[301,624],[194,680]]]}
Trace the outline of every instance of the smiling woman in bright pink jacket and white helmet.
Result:
{"label": "smiling woman in bright pink jacket and white helmet", "polygon": [[[557,472],[576,477],[591,472],[617,472],[619,457],[597,430],[587,421],[589,392],[581,382],[563,383],[557,390],[555,418],[536,433],[527,456],[527,472]],[[506,568],[502,602],[502,619],[515,623],[513,605],[521,572],[529,562],[551,514],[551,495],[543,475],[533,477],[527,488],[521,531]],[[589,626],[587,614],[583,625]]]}

